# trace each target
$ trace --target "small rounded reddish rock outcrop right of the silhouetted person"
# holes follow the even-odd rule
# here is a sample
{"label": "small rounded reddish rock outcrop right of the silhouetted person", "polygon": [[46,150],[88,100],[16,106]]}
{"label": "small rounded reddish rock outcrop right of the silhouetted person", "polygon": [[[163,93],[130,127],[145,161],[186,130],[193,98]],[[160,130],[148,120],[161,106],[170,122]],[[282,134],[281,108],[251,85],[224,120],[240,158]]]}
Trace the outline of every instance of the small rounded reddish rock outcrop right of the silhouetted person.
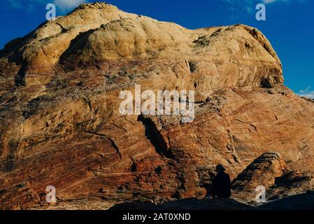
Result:
{"label": "small rounded reddish rock outcrop right of the silhouetted person", "polygon": [[276,152],[264,153],[232,181],[233,196],[246,202],[256,202],[258,186],[264,186],[266,200],[306,193],[314,188],[309,172],[287,169],[283,157]]}

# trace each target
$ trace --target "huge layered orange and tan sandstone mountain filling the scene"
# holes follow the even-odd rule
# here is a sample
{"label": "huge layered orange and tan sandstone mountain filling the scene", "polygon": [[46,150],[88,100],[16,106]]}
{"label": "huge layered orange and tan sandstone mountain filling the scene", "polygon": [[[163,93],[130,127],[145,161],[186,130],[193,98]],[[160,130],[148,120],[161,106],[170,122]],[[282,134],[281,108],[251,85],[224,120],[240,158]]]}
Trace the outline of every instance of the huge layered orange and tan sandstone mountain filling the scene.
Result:
{"label": "huge layered orange and tan sandstone mountain filling the scene", "polygon": [[[44,204],[46,186],[62,203],[203,197],[217,163],[234,179],[268,151],[314,167],[314,104],[245,25],[190,30],[85,4],[8,43],[0,83],[1,209]],[[194,121],[121,116],[119,93],[136,84],[194,90]]]}

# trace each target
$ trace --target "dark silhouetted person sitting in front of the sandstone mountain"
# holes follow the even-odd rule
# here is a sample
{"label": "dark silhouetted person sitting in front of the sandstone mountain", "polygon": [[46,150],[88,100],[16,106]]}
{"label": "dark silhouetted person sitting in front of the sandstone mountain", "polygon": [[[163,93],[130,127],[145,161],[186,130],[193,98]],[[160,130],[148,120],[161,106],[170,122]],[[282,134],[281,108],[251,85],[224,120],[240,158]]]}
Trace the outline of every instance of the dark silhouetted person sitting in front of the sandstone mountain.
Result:
{"label": "dark silhouetted person sitting in front of the sandstone mountain", "polygon": [[212,172],[209,173],[210,180],[213,183],[213,188],[211,195],[213,198],[217,197],[230,197],[230,176],[225,173],[226,169],[224,166],[217,165],[216,172],[217,175],[214,175]]}

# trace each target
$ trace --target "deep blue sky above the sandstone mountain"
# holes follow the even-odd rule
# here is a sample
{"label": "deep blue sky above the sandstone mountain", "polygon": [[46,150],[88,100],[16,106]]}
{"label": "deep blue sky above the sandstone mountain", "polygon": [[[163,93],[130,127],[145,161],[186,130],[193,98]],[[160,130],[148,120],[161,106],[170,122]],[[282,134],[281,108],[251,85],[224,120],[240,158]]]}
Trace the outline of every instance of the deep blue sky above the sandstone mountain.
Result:
{"label": "deep blue sky above the sandstone mountain", "polygon": [[[45,21],[45,5],[55,3],[57,16],[84,0],[0,0],[0,48]],[[85,2],[90,2],[85,0]],[[118,8],[190,29],[242,23],[257,27],[283,62],[285,85],[314,98],[313,0],[108,0]],[[257,3],[266,5],[266,21],[255,19]]]}

